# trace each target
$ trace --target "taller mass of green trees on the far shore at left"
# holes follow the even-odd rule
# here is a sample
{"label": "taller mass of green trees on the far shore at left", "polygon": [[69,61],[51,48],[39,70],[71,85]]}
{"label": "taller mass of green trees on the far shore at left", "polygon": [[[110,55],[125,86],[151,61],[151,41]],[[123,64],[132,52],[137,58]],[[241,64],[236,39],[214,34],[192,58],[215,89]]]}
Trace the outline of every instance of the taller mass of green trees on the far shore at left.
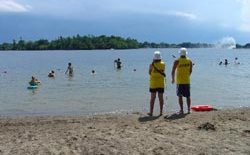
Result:
{"label": "taller mass of green trees on the far shore at left", "polygon": [[0,44],[0,50],[92,50],[92,49],[131,49],[139,48],[135,39],[117,36],[73,36],[55,40],[39,39],[36,41],[13,40],[12,43]]}

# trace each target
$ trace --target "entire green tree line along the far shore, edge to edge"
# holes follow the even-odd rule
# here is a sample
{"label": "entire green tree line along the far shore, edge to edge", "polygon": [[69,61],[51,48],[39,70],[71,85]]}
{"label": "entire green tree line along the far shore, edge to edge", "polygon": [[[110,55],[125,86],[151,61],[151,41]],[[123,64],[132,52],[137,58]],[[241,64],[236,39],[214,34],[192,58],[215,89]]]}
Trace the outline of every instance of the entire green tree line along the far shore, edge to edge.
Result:
{"label": "entire green tree line along the far shore, edge to edge", "polygon": [[[0,50],[93,50],[93,49],[138,49],[138,48],[210,48],[213,44],[184,42],[180,44],[138,42],[132,38],[119,36],[80,36],[58,37],[55,40],[39,39],[36,41],[25,41],[20,38],[12,43],[0,44]],[[246,46],[246,47],[245,47]],[[249,48],[237,45],[238,48]]]}

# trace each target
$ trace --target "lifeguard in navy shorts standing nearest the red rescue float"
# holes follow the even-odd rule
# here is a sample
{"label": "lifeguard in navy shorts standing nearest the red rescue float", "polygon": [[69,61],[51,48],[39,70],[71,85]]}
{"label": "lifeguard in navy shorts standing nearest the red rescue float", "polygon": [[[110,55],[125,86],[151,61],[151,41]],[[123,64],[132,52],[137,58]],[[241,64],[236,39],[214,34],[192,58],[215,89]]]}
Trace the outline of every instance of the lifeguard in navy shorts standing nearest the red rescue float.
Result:
{"label": "lifeguard in navy shorts standing nearest the red rescue float", "polygon": [[179,100],[180,111],[183,114],[183,100],[186,97],[187,110],[190,113],[191,98],[190,98],[190,75],[193,69],[192,61],[187,57],[187,49],[181,48],[180,58],[174,61],[172,68],[172,83],[176,83],[176,93]]}

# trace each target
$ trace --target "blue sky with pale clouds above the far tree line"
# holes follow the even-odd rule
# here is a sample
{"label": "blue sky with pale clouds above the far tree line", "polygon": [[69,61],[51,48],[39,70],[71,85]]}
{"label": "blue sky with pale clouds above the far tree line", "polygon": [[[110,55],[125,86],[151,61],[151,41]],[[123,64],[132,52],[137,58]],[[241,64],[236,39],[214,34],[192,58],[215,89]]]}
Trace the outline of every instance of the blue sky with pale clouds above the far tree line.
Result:
{"label": "blue sky with pale clouds above the far tree line", "polygon": [[245,44],[250,0],[0,0],[0,42],[76,34]]}

